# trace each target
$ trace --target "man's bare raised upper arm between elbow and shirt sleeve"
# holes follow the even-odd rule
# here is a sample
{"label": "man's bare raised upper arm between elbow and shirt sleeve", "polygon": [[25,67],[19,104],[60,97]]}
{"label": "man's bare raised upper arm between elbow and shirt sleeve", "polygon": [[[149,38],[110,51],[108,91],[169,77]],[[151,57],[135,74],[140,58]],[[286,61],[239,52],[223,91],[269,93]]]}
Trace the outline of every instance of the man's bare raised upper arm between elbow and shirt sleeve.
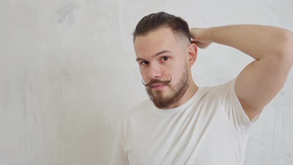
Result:
{"label": "man's bare raised upper arm between elbow and shirt sleeve", "polygon": [[275,56],[255,60],[241,71],[235,82],[235,93],[249,118],[278,94],[291,67],[288,59]]}

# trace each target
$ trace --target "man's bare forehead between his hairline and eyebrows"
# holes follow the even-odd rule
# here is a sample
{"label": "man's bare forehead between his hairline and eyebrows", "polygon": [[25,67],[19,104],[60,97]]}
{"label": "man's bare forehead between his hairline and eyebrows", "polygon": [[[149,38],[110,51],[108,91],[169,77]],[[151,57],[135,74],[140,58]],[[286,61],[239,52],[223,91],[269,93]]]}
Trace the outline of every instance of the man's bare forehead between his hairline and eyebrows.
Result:
{"label": "man's bare forehead between his hairline and eyebrows", "polygon": [[137,56],[153,55],[161,50],[175,51],[178,48],[171,29],[160,28],[149,32],[145,36],[137,36],[134,48]]}

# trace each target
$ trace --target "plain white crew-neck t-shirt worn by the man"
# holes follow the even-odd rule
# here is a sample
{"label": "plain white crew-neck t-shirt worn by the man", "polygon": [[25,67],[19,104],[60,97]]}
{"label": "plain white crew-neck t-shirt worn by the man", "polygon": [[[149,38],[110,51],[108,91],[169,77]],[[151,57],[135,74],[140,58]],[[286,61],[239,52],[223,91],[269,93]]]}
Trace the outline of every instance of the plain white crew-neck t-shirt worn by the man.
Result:
{"label": "plain white crew-neck t-shirt worn by the man", "polygon": [[234,90],[236,78],[199,87],[184,104],[158,109],[150,99],[117,124],[111,165],[243,165],[252,121]]}

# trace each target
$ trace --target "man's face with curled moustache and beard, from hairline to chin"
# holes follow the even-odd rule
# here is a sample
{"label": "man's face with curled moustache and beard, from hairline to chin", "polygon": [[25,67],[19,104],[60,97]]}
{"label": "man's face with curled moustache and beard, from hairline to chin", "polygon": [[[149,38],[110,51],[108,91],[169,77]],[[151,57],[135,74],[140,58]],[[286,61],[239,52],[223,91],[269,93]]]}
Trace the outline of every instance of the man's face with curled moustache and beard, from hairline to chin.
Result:
{"label": "man's face with curled moustache and beard, from hairline to chin", "polygon": [[167,108],[182,98],[189,87],[186,45],[169,28],[137,36],[135,52],[149,98]]}

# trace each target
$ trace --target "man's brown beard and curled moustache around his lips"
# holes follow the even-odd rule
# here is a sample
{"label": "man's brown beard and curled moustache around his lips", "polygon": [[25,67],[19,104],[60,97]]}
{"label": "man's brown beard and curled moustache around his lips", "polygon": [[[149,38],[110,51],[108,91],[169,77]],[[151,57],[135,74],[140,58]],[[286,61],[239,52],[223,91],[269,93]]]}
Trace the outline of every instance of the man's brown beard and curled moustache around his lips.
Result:
{"label": "man's brown beard and curled moustache around his lips", "polygon": [[[151,80],[146,85],[147,95],[157,108],[167,108],[170,105],[178,102],[183,97],[187,88],[190,85],[190,81],[188,80],[187,67],[185,67],[184,73],[182,74],[179,83],[175,85],[170,85],[170,81]],[[163,90],[152,91],[152,83],[163,83],[166,85],[165,87],[170,87],[171,91],[166,96],[163,95]]]}

